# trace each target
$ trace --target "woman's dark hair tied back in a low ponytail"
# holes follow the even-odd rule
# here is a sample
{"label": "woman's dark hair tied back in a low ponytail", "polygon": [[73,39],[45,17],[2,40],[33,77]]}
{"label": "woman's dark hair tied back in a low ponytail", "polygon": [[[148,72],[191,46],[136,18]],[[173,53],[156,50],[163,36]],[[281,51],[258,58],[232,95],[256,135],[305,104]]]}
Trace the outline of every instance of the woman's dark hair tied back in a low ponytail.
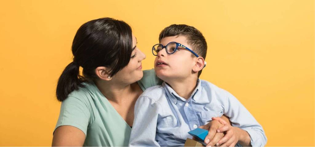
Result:
{"label": "woman's dark hair tied back in a low ponytail", "polygon": [[[128,65],[132,52],[131,27],[121,20],[100,18],[84,23],[72,42],[73,62],[62,72],[56,89],[59,101],[79,87],[82,82],[97,79],[95,69],[110,67],[110,76]],[[83,76],[79,67],[83,68]]]}

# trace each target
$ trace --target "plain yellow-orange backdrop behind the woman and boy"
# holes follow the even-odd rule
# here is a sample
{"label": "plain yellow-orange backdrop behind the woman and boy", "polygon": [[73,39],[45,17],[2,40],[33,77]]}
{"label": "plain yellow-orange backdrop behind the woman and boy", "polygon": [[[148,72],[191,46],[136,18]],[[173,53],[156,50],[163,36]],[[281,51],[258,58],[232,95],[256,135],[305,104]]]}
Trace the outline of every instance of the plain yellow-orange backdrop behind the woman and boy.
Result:
{"label": "plain yellow-orange backdrop behind the woman and boy", "polygon": [[202,79],[235,95],[263,126],[267,146],[314,146],[313,0],[2,1],[0,146],[50,146],[56,82],[72,39],[100,17],[132,26],[151,47],[166,26],[187,24],[208,43]]}

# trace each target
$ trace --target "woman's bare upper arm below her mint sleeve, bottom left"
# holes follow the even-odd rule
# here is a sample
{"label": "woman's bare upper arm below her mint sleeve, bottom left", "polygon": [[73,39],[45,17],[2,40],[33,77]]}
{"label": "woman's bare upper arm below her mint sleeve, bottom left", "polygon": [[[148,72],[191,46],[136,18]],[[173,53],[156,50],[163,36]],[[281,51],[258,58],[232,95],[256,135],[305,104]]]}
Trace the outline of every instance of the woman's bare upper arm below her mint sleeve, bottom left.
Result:
{"label": "woman's bare upper arm below her mint sleeve, bottom left", "polygon": [[60,126],[54,132],[51,146],[83,146],[85,134],[73,126]]}

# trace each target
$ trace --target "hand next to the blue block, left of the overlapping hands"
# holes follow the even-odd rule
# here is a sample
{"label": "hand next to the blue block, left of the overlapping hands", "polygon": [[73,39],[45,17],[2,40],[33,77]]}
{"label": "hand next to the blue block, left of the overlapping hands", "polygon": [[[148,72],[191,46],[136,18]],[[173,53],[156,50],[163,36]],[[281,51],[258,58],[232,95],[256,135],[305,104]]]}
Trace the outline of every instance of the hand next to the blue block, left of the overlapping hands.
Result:
{"label": "hand next to the blue block, left of the overlapping hands", "polygon": [[[208,135],[204,139],[204,143],[206,143],[207,146],[215,146],[215,144],[224,136],[223,131],[221,133],[217,132],[217,130],[221,127],[224,127],[224,124],[220,123],[220,121],[218,120],[213,120],[208,124],[199,127],[205,130],[209,130]],[[194,137],[192,139],[197,140]]]}

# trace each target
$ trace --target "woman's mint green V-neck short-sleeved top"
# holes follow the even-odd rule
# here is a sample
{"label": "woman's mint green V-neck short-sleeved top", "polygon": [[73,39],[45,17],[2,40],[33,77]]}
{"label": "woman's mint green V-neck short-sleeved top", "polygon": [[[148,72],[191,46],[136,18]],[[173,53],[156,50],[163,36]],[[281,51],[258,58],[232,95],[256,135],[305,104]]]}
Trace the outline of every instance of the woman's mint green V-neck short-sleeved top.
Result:
{"label": "woman's mint green V-neck short-sleeved top", "polygon": [[[154,70],[143,71],[138,84],[146,88],[161,85]],[[128,146],[131,128],[104,97],[94,82],[83,83],[61,103],[56,127],[69,125],[82,130],[86,136],[83,146]]]}

